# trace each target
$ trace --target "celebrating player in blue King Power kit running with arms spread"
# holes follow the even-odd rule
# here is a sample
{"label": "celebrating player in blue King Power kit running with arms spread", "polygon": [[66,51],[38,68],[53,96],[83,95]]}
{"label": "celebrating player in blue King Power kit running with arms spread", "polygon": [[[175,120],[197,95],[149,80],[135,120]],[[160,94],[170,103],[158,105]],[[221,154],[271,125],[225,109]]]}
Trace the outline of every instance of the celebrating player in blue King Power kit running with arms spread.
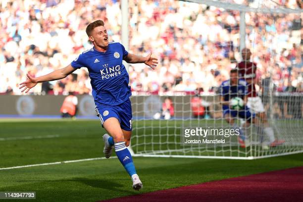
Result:
{"label": "celebrating player in blue King Power kit running with arms spread", "polygon": [[27,74],[28,79],[20,84],[20,89],[27,93],[37,83],[62,79],[76,69],[86,67],[91,79],[97,115],[102,127],[109,134],[103,136],[103,153],[109,158],[114,147],[119,161],[131,176],[133,188],[140,190],[143,185],[137,175],[132,155],[126,148],[131,138],[132,107],[129,99],[129,75],[122,60],[128,63],[145,63],[154,69],[157,59],[151,57],[152,53],[146,57],[138,56],[128,53],[120,43],[109,43],[104,22],[101,20],[90,23],[86,33],[94,45],[92,49],[82,52],[68,66],[47,75],[35,78]]}

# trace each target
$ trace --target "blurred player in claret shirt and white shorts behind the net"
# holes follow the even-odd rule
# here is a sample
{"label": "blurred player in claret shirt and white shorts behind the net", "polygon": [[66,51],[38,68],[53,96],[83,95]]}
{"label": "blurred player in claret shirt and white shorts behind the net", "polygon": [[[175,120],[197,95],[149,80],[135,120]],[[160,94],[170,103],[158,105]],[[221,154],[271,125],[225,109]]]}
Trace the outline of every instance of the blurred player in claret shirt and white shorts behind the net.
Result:
{"label": "blurred player in claret shirt and white shorts behind the net", "polygon": [[248,84],[248,100],[247,105],[252,110],[252,112],[256,113],[261,121],[261,129],[267,135],[269,142],[263,142],[262,147],[267,148],[275,147],[283,144],[284,140],[276,140],[274,136],[274,131],[271,127],[269,127],[267,117],[265,114],[265,109],[262,104],[261,98],[257,96],[255,84],[257,83],[256,79],[256,63],[251,62],[252,52],[250,49],[243,49],[241,51],[242,59],[240,63],[237,64],[237,68],[239,69],[239,78],[244,79]]}

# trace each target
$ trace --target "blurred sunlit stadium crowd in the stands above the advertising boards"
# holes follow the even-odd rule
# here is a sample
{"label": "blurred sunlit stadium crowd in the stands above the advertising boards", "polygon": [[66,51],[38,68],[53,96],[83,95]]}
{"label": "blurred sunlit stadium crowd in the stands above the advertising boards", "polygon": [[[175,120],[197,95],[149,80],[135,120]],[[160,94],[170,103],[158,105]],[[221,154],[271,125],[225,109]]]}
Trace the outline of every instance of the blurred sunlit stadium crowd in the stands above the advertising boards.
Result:
{"label": "blurred sunlit stadium crowd in the stands above the advertising boards", "polygon": [[[300,2],[279,1],[290,8],[299,8]],[[144,64],[129,66],[133,95],[196,89],[211,93],[241,60],[238,11],[184,1],[131,0],[129,15],[129,51],[142,55],[152,51],[159,58],[154,71]],[[18,84],[26,72],[36,77],[47,74],[90,49],[85,28],[97,19],[105,22],[110,40],[120,41],[118,0],[1,0],[0,93],[19,95]],[[302,15],[248,12],[246,33],[259,80],[272,73],[277,91],[303,92]],[[85,68],[31,90],[43,95],[71,91],[91,93]]]}

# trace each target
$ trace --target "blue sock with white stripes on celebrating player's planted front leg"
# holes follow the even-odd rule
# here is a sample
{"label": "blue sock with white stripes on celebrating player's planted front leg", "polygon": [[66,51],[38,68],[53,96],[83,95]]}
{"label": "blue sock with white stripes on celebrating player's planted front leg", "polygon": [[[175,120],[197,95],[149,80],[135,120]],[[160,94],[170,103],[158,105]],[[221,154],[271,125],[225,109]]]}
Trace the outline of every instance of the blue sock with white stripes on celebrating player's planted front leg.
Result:
{"label": "blue sock with white stripes on celebrating player's planted front leg", "polygon": [[[110,137],[112,139],[112,137]],[[109,139],[108,139],[109,142]],[[110,144],[110,142],[109,142]],[[115,151],[116,155],[119,158],[120,162],[124,166],[127,173],[132,176],[133,174],[137,174],[135,165],[133,163],[133,158],[128,149],[125,146],[125,142],[115,143]]]}

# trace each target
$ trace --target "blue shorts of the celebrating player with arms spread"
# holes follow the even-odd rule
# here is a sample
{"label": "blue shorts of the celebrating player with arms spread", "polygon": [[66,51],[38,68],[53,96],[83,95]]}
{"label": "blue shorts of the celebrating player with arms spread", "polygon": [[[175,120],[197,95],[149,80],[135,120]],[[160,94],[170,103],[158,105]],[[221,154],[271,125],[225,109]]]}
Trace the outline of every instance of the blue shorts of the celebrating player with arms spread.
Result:
{"label": "blue shorts of the celebrating player with arms spread", "polygon": [[130,99],[124,101],[118,105],[107,105],[99,104],[96,106],[97,116],[101,120],[101,125],[103,127],[104,121],[110,117],[115,117],[119,120],[120,126],[123,130],[132,131],[132,105]]}

